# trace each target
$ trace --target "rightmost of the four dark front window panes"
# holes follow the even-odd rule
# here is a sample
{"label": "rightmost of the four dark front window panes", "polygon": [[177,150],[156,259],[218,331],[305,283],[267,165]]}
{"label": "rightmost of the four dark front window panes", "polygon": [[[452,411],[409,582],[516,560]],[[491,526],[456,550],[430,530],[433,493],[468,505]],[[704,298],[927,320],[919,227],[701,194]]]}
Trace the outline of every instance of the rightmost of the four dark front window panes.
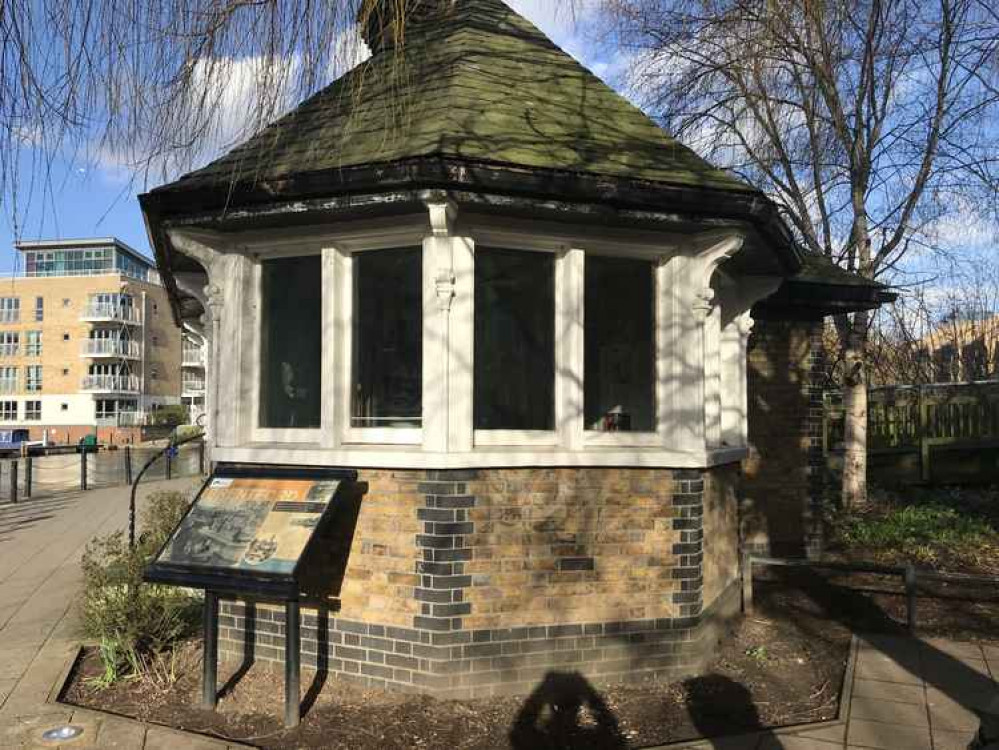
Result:
{"label": "rightmost of the four dark front window panes", "polygon": [[655,431],[652,263],[586,258],[586,427]]}

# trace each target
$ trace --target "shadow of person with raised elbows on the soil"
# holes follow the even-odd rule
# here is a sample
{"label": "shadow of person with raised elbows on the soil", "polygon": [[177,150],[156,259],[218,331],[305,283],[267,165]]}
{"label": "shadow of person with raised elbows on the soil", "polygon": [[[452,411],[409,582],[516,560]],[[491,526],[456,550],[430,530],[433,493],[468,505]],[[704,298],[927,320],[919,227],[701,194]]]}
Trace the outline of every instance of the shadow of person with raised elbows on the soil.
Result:
{"label": "shadow of person with raised elbows on the soil", "polygon": [[617,718],[578,672],[549,672],[510,729],[513,750],[626,750]]}

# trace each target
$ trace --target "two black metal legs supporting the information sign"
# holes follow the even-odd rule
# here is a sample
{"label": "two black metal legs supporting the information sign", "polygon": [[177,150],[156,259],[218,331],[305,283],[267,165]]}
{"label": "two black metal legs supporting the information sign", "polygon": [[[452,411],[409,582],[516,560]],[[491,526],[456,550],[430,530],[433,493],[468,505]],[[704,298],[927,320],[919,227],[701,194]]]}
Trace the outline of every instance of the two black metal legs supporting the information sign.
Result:
{"label": "two black metal legs supporting the information sign", "polygon": [[[284,603],[284,614],[284,725],[287,729],[293,729],[301,720],[302,689],[302,651],[297,599],[290,599]],[[215,591],[205,591],[202,625],[205,651],[201,675],[201,705],[207,710],[214,711],[218,703],[219,661],[219,595]],[[250,625],[244,623],[243,627]]]}

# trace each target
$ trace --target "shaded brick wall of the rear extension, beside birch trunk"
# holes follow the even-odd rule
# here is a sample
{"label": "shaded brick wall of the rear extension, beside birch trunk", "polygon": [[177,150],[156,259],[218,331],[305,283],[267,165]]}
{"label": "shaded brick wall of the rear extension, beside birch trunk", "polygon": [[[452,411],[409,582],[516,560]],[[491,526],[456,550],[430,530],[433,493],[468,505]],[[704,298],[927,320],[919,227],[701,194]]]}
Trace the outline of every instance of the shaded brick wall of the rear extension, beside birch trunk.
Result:
{"label": "shaded brick wall of the rear extension, beside birch trunk", "polygon": [[747,549],[815,554],[822,544],[822,323],[760,320],[749,339]]}

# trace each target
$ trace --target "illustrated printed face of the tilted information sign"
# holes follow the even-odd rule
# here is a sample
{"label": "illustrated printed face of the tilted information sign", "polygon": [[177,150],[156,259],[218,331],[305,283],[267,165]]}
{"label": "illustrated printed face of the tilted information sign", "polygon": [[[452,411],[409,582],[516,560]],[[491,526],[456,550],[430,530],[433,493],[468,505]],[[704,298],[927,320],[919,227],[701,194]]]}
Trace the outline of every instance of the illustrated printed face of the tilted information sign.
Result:
{"label": "illustrated printed face of the tilted information sign", "polygon": [[291,575],[340,483],[216,478],[158,562]]}

